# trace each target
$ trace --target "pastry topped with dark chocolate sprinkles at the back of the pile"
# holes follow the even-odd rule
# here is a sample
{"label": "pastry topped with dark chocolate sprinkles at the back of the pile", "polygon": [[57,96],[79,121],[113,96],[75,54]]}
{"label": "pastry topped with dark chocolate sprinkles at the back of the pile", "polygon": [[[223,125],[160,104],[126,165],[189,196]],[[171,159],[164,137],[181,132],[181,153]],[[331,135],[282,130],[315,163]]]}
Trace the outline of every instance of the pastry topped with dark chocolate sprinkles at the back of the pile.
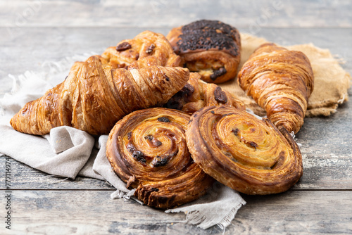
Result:
{"label": "pastry topped with dark chocolate sprinkles at the back of the pile", "polygon": [[166,37],[184,67],[205,82],[221,83],[237,75],[241,40],[235,27],[218,20],[199,20],[175,27]]}

